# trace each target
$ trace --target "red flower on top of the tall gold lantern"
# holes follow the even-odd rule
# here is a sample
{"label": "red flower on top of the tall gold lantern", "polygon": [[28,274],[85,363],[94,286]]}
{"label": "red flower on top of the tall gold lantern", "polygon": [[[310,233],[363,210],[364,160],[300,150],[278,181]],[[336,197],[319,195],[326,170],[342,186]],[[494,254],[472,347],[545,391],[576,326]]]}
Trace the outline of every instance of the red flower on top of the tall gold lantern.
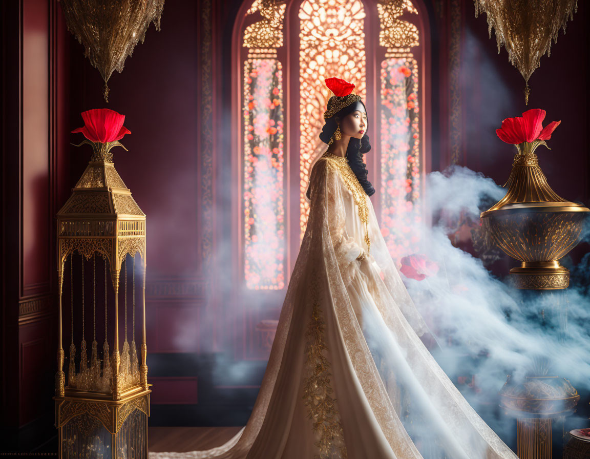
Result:
{"label": "red flower on top of the tall gold lantern", "polygon": [[84,126],[74,129],[72,133],[80,132],[86,137],[82,143],[87,143],[93,147],[94,153],[98,154],[100,159],[111,160],[112,154],[110,149],[114,146],[122,146],[119,142],[124,135],[130,134],[131,131],[123,126],[125,116],[110,109],[92,109],[82,112]]}

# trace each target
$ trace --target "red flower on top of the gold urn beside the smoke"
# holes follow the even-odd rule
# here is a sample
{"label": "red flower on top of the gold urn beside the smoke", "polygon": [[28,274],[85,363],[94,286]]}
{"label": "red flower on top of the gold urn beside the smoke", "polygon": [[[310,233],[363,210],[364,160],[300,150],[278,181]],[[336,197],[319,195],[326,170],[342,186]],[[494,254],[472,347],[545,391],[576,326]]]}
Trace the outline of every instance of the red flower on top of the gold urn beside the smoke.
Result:
{"label": "red flower on top of the gold urn beside the smoke", "polygon": [[496,134],[500,140],[516,145],[519,153],[525,155],[532,153],[539,145],[547,146],[545,140],[549,140],[560,121],[553,121],[543,127],[545,110],[532,109],[522,114],[522,117],[506,118],[502,121]]}

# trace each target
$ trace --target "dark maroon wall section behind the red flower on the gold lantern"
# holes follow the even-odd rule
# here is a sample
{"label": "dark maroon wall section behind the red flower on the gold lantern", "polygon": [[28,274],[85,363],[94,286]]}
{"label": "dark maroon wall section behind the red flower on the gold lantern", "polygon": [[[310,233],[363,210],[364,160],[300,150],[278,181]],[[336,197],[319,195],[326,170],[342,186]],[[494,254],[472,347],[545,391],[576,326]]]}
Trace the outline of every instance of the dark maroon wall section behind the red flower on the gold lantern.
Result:
{"label": "dark maroon wall section behind the red flower on the gold lantern", "polygon": [[[80,112],[106,107],[126,116],[132,132],[113,150],[114,164],[148,218],[148,265],[151,278],[194,277],[199,269],[196,244],[198,211],[198,43],[196,2],[166,4],[162,29],[150,25],[122,73],[109,80],[109,103],[102,96],[99,72],[71,39],[72,127],[82,126]],[[70,135],[72,141],[83,139]],[[78,142],[76,142],[78,143]],[[88,146],[70,149],[70,186],[90,159]]]}

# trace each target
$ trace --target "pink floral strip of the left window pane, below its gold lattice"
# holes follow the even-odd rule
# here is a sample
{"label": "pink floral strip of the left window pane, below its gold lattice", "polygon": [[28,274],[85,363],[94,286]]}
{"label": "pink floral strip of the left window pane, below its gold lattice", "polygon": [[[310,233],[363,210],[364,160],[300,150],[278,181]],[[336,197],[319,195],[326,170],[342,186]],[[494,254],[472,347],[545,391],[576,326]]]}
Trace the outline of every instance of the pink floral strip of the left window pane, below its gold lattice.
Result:
{"label": "pink floral strip of the left window pane, below its gold lattice", "polygon": [[284,288],[283,70],[244,63],[244,276],[247,288]]}

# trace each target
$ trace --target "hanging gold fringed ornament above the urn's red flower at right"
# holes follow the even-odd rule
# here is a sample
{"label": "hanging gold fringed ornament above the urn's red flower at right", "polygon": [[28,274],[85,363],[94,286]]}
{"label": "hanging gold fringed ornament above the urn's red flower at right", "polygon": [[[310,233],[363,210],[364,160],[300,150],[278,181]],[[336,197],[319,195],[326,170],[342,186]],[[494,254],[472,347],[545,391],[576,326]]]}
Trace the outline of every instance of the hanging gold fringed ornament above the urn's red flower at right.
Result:
{"label": "hanging gold fringed ornament above the urn's red flower at right", "polygon": [[529,103],[529,78],[539,68],[540,58],[551,54],[560,28],[578,9],[577,0],[474,0],[476,17],[487,14],[490,32],[496,31],[498,53],[504,45],[509,61],[525,78],[525,101]]}

